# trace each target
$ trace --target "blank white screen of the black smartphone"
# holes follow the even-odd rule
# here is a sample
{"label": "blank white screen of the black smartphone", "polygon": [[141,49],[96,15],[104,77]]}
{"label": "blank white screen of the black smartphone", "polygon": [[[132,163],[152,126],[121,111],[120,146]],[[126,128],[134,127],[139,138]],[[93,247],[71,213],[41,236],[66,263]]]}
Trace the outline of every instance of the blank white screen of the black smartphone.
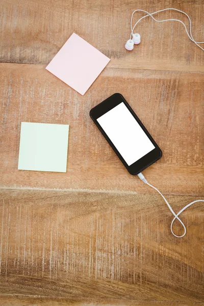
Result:
{"label": "blank white screen of the black smartphone", "polygon": [[123,102],[97,121],[129,166],[155,148]]}

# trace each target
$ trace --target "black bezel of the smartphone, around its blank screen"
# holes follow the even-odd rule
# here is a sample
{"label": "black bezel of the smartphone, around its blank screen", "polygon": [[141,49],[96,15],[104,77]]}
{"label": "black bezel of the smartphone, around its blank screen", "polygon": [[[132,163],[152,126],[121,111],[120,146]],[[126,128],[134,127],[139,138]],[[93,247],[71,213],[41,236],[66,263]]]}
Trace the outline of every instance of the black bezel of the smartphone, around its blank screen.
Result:
{"label": "black bezel of the smartphone, around its blank screen", "polygon": [[[140,158],[138,161],[136,161],[134,164],[132,164],[130,166],[127,165],[127,163],[125,162],[123,157],[120,155],[117,148],[114,146],[114,144],[112,143],[112,141],[110,140],[108,135],[105,133],[105,131],[102,129],[102,127],[100,126],[100,124],[97,121],[97,119],[100,116],[103,116],[108,111],[110,111],[111,109],[113,109],[114,107],[116,107],[118,104],[120,104],[122,102],[125,104],[127,109],[129,109],[129,111],[131,112],[133,117],[136,119],[136,121],[141,126],[142,130],[145,132],[147,137],[150,139],[150,141],[155,146],[155,149],[153,149],[152,151],[147,153],[145,156],[143,156],[142,158]],[[101,102],[100,104],[98,104],[94,108],[92,108],[90,110],[90,117],[93,120],[93,122],[96,124],[96,126],[98,127],[99,131],[104,135],[104,137],[106,138],[108,143],[111,145],[112,149],[115,151],[115,153],[117,154],[117,156],[119,157],[119,159],[121,160],[121,162],[123,163],[123,165],[125,166],[127,171],[129,171],[130,174],[136,175],[136,174],[140,173],[141,171],[143,171],[148,166],[155,163],[156,161],[158,161],[162,157],[162,150],[160,149],[158,144],[155,142],[155,140],[151,137],[149,132],[146,130],[144,124],[140,121],[138,116],[135,114],[133,109],[130,107],[130,105],[127,103],[125,98],[120,93],[114,93],[112,96],[108,97],[106,100],[104,100],[103,102]]]}

